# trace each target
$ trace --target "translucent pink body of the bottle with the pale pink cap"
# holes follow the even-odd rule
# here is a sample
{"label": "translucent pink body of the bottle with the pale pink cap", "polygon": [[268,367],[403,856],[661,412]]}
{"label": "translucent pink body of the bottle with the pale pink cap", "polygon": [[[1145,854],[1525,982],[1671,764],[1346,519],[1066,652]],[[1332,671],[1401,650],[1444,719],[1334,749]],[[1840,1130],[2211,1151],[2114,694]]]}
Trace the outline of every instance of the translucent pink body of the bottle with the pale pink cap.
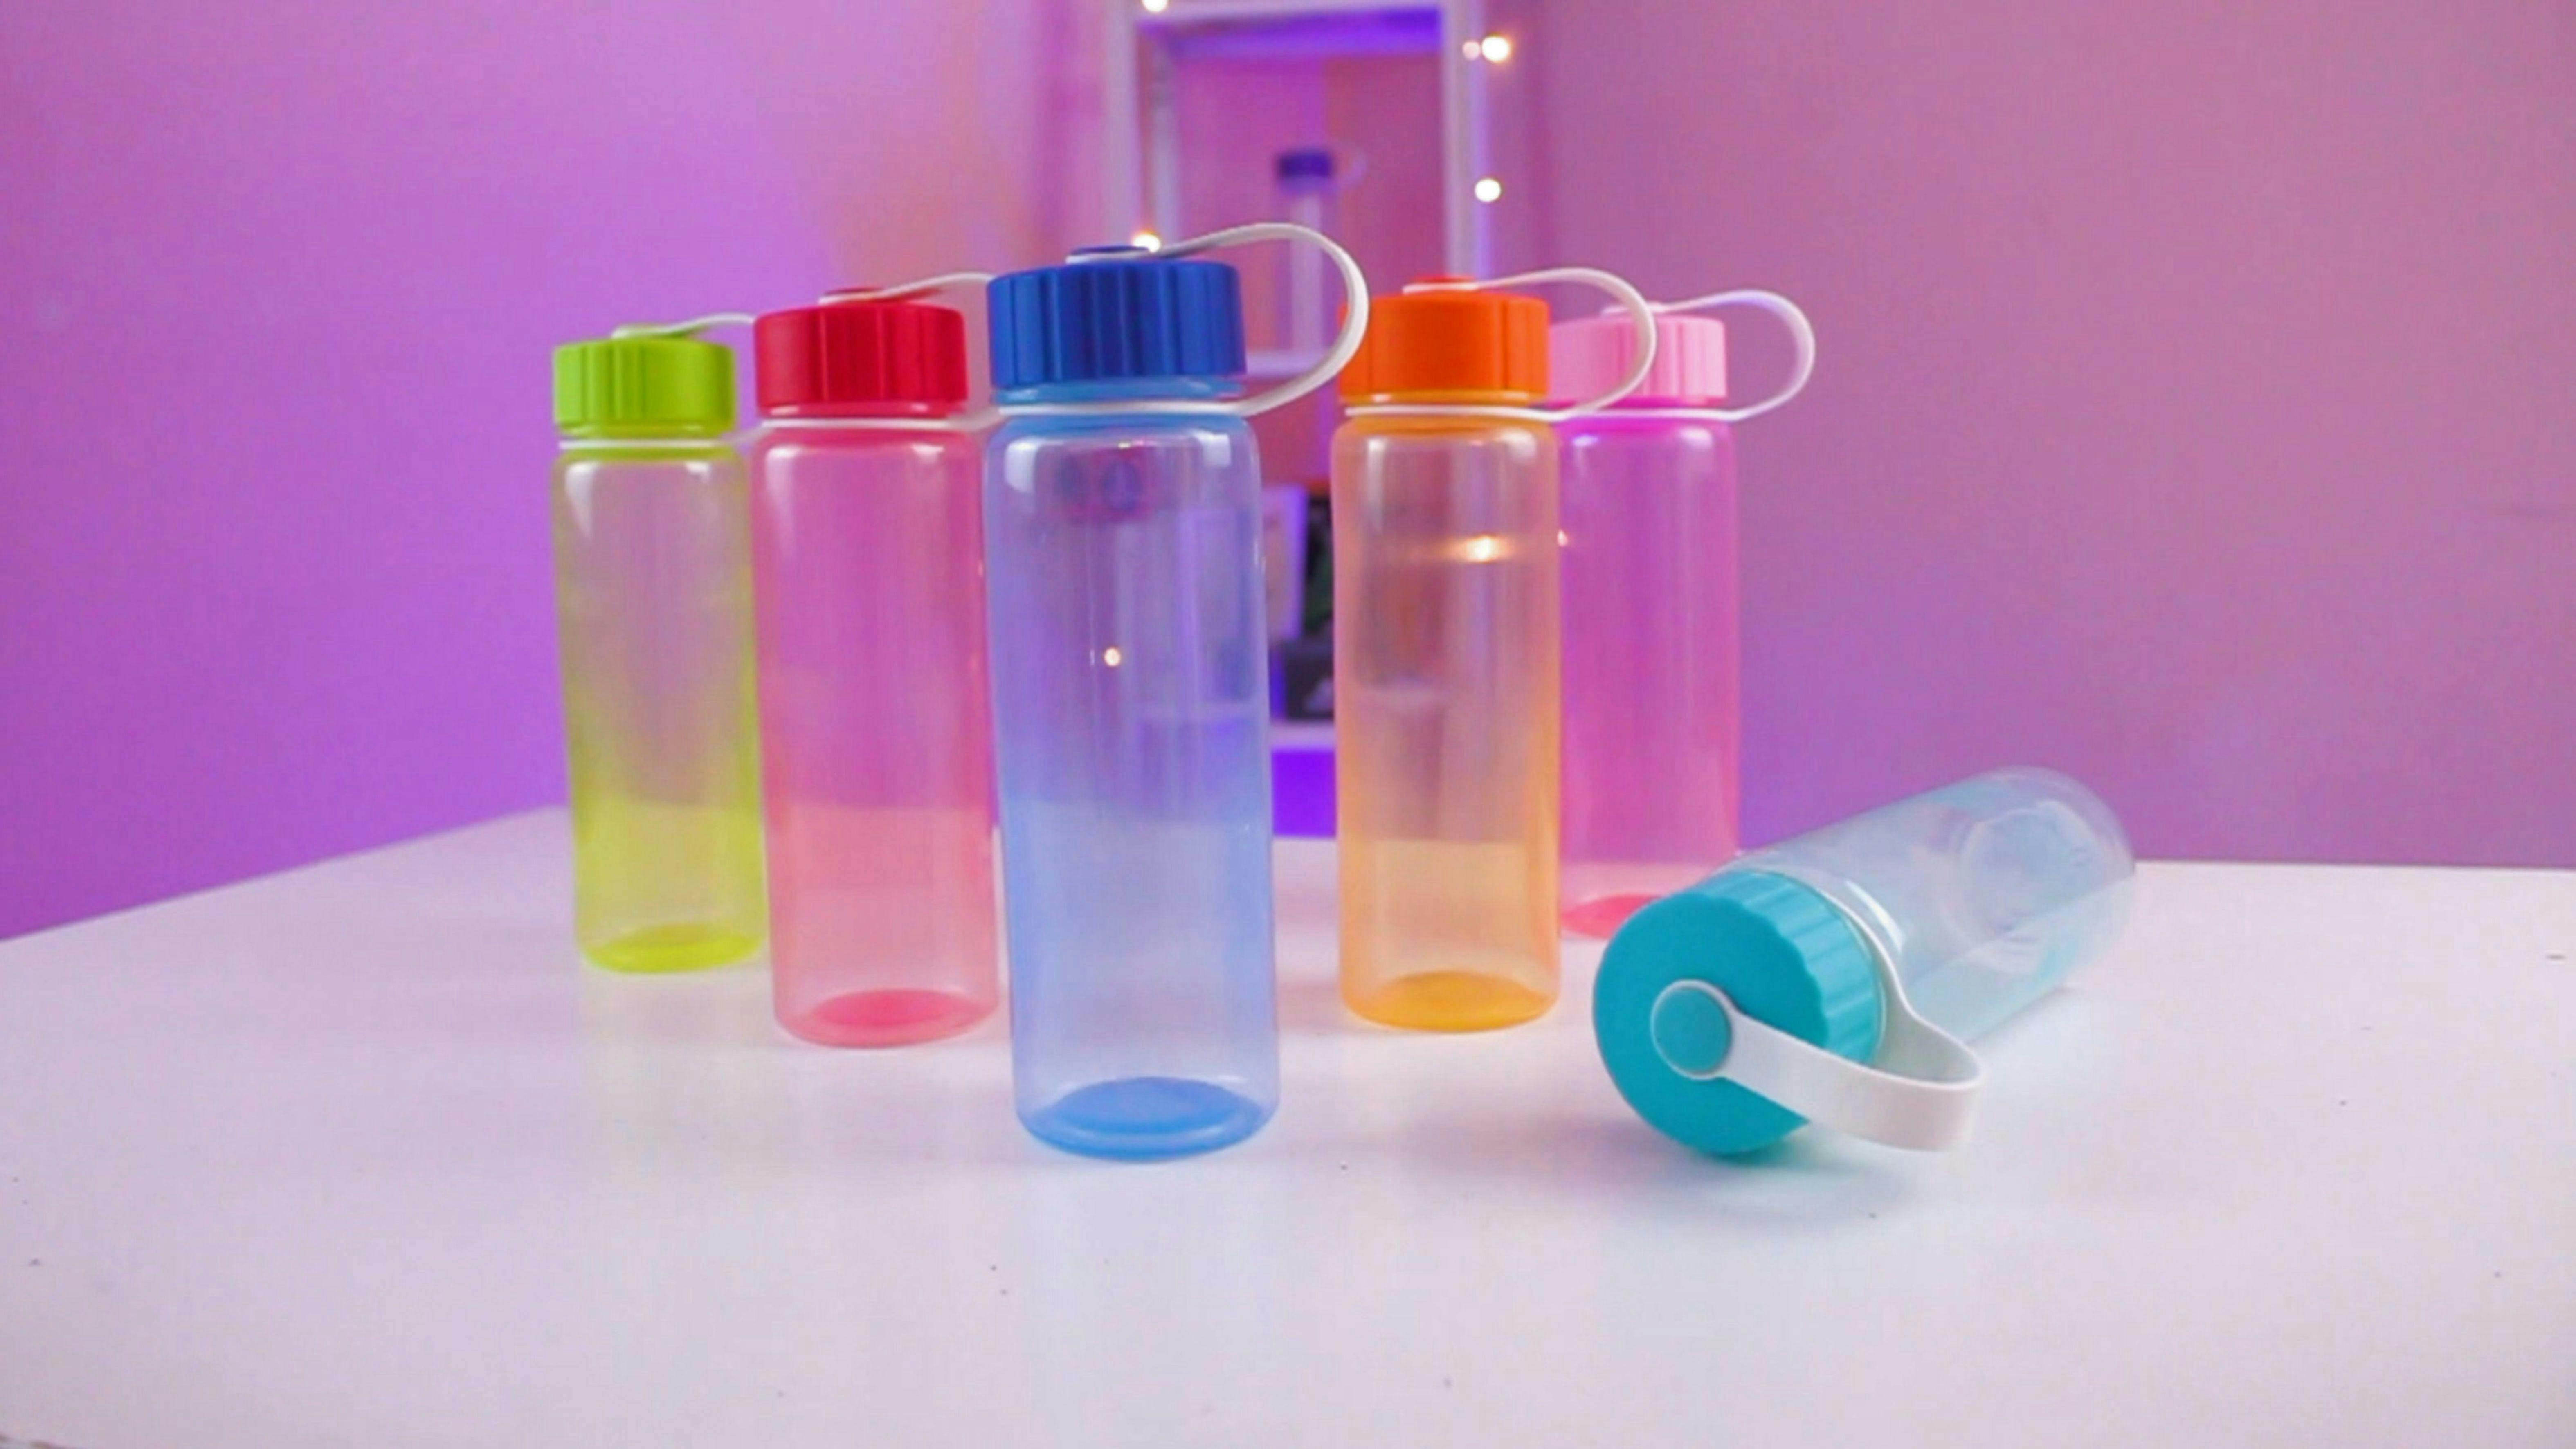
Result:
{"label": "translucent pink body of the bottle with the pale pink cap", "polygon": [[1736,443],[1623,417],[1564,440],[1564,921],[1607,937],[1736,854]]}

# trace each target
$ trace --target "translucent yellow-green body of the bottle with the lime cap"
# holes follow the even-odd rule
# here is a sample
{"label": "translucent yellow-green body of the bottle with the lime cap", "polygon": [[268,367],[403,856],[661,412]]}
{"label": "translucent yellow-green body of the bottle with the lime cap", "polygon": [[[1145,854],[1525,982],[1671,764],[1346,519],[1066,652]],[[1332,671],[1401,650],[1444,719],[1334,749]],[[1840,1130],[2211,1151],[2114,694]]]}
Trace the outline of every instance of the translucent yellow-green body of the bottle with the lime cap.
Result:
{"label": "translucent yellow-green body of the bottle with the lime cap", "polygon": [[765,934],[744,502],[714,440],[554,466],[574,932],[613,970],[721,965]]}

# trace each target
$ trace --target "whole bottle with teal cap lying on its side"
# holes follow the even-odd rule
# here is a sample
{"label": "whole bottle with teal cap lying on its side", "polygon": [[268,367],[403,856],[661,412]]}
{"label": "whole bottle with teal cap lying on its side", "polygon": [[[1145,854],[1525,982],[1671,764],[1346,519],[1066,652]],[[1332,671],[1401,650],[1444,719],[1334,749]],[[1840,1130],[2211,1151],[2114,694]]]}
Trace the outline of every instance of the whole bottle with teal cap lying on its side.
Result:
{"label": "whole bottle with teal cap lying on its side", "polygon": [[[1937,1114],[1965,1112],[1976,1078],[1958,1042],[2099,957],[2133,878],[2110,806],[2050,770],[1880,806],[1631,916],[1595,981],[1602,1060],[1649,1122],[1713,1153],[1765,1148],[1806,1117],[1947,1145],[1963,1117]],[[1772,1060],[1734,1060],[1765,1035],[1793,1037],[1790,1050],[1759,1040]],[[1837,1063],[1801,1060],[1795,1042],[1888,1071],[1821,1071]],[[1911,1071],[1940,1078],[1935,1091]]]}

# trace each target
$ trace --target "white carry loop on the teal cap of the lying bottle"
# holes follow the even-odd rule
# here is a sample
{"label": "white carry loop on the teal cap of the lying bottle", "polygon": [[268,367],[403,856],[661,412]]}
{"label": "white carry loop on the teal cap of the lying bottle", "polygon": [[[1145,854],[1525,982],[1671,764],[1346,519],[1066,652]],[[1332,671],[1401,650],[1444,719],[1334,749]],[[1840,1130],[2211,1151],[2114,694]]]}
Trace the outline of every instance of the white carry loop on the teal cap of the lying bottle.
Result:
{"label": "white carry loop on the teal cap of the lying bottle", "polygon": [[1705,996],[1726,1011],[1726,1058],[1708,1068],[1664,1066],[1692,1081],[1734,1081],[1780,1107],[1870,1143],[1940,1153],[1968,1138],[1986,1066],[1950,1032],[1914,1014],[1896,973],[1880,963],[1888,1022],[1878,1053],[1857,1063],[1747,1017],[1705,981],[1674,981],[1654,999]]}

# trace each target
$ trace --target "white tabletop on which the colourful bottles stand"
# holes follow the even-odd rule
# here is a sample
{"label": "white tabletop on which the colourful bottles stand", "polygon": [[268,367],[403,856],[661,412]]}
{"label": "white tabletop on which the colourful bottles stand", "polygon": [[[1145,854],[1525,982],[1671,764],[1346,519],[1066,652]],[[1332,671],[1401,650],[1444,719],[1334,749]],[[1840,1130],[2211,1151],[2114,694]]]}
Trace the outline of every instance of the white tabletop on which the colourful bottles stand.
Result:
{"label": "white tabletop on which the colourful bottles stand", "polygon": [[569,950],[559,813],[0,945],[0,1436],[72,1449],[2576,1444],[2576,875],[2151,865],[1965,1150],[1698,1158],[1414,1037],[1280,847],[1285,1102],[1103,1163],[1002,1024]]}

